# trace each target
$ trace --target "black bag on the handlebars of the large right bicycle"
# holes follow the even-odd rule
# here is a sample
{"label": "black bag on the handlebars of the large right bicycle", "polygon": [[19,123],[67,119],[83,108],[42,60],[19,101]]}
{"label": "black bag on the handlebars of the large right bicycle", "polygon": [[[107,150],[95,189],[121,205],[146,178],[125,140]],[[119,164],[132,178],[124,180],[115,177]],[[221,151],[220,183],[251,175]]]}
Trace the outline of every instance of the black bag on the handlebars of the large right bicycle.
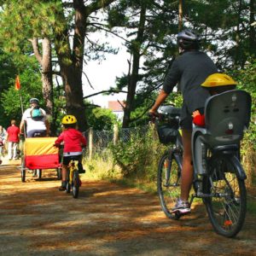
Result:
{"label": "black bag on the handlebars of the large right bicycle", "polygon": [[172,106],[160,107],[162,118],[157,124],[157,133],[160,143],[169,144],[175,143],[178,133],[178,123],[181,108]]}

